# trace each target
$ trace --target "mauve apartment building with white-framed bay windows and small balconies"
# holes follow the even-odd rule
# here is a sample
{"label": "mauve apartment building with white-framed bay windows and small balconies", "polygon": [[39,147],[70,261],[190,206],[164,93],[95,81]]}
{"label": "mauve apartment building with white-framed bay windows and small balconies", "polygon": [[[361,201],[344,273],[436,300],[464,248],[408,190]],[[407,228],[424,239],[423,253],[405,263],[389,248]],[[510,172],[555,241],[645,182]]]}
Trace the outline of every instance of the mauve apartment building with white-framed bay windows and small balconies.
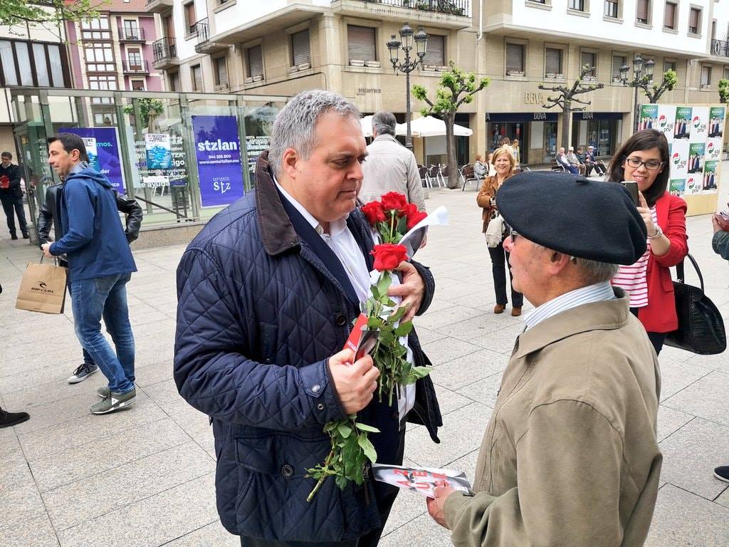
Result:
{"label": "mauve apartment building with white-framed bay windows and small balconies", "polygon": [[[155,15],[146,0],[111,0],[99,17],[66,22],[74,84],[91,90],[163,90],[163,74],[152,63]],[[91,105],[93,125],[116,125],[110,99]]]}

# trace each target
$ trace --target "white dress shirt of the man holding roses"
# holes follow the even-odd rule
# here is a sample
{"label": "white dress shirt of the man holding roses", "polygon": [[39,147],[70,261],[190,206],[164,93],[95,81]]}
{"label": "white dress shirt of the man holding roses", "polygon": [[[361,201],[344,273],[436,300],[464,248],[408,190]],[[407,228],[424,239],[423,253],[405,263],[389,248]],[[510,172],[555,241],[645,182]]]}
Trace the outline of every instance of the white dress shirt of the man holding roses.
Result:
{"label": "white dress shirt of the man holding roses", "polygon": [[[337,255],[340,263],[342,264],[344,271],[346,271],[349,282],[351,282],[354,292],[356,292],[359,303],[364,303],[367,298],[370,297],[370,272],[367,271],[367,260],[364,260],[362,255],[362,249],[357,244],[354,235],[349,231],[347,227],[347,217],[340,218],[329,223],[329,233],[324,233],[324,228],[321,227],[319,221],[316,220],[311,213],[309,213],[304,206],[296,201],[296,199],[284,190],[278,181],[274,178],[273,182],[276,183],[278,191],[281,195],[286,198],[295,209],[306,219],[306,222],[311,224],[311,227],[319,233],[324,241],[327,242],[330,249]],[[412,351],[408,347],[408,360],[413,362]],[[400,422],[408,414],[411,408],[415,406],[415,384],[405,386],[404,389],[400,389],[400,396],[397,400],[397,411],[399,414]]]}

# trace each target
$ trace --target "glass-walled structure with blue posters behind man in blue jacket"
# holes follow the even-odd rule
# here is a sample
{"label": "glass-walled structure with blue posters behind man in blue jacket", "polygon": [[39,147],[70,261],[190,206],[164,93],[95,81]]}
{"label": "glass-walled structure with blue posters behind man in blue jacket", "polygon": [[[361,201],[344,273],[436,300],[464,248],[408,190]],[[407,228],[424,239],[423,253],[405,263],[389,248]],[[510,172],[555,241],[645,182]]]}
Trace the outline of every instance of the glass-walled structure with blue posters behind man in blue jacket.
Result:
{"label": "glass-walled structure with blue posters behind man in blue jacket", "polygon": [[55,178],[47,136],[61,131],[84,139],[92,166],[146,209],[146,225],[211,217],[254,186],[255,162],[286,100],[15,88],[14,131],[34,186],[31,217]]}

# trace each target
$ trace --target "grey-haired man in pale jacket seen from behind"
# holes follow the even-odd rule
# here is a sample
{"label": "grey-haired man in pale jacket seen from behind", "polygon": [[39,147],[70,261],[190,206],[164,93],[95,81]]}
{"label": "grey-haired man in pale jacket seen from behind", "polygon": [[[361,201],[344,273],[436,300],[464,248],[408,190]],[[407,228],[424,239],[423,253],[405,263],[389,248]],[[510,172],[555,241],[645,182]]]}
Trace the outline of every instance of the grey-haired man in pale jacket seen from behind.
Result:
{"label": "grey-haired man in pale jacket seen from behind", "polygon": [[375,112],[372,117],[373,141],[367,147],[367,160],[362,165],[364,180],[359,199],[362,203],[378,201],[383,194],[397,192],[408,203],[425,211],[423,183],[415,155],[395,139],[395,120],[391,112]]}

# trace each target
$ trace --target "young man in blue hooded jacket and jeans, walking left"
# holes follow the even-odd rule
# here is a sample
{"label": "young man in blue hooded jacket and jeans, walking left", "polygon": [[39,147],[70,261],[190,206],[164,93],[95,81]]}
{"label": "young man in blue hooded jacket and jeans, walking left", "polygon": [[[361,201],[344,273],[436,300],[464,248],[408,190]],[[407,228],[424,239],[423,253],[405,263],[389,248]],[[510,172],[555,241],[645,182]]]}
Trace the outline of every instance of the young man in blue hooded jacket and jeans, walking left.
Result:
{"label": "young man in blue hooded jacket and jeans, walking left", "polygon": [[[65,179],[59,199],[61,233],[43,245],[47,257],[66,255],[74,323],[79,342],[101,368],[109,387],[93,414],[107,414],[136,400],[134,337],[129,324],[125,285],[136,271],[122,228],[112,183],[82,160],[82,139],[58,133],[48,139],[48,163]],[[116,352],[101,334],[101,317]]]}

